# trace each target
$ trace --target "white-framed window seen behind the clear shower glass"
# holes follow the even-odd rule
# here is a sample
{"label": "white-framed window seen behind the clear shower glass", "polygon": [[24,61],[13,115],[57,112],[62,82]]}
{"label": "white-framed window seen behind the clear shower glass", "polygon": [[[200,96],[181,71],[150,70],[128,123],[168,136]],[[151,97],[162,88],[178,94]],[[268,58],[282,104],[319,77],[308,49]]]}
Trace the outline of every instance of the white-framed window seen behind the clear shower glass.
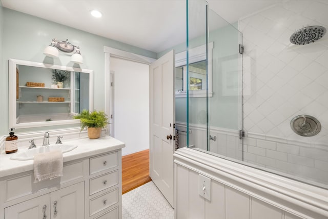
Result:
{"label": "white-framed window seen behind the clear shower glass", "polygon": [[[175,56],[175,97],[187,96],[187,80],[189,81],[190,97],[213,96],[212,92],[212,50],[213,42],[208,46],[207,61],[206,45],[189,50],[189,78],[187,78],[187,54],[177,53]],[[208,67],[208,69],[207,69]],[[208,70],[208,83],[207,83]]]}

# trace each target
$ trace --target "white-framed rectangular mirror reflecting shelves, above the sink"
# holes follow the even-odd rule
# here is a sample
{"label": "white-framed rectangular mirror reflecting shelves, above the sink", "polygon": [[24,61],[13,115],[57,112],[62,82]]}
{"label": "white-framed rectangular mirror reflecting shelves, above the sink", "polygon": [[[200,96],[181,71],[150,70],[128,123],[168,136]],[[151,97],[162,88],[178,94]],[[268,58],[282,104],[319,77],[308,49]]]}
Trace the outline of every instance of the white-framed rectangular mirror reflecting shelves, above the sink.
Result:
{"label": "white-framed rectangular mirror reflecting shelves, above the sink", "polygon": [[9,59],[9,125],[30,128],[79,123],[93,110],[93,71]]}

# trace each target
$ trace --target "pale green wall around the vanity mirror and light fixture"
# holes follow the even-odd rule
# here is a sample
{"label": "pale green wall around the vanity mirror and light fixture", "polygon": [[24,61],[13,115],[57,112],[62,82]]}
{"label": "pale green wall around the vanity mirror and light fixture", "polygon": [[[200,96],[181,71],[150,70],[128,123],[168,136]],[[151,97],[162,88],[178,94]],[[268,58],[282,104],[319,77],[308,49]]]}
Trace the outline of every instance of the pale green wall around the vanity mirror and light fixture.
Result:
{"label": "pale green wall around the vanity mirror and light fixture", "polygon": [[[55,65],[73,66],[70,54],[59,52],[59,59],[46,57],[44,49],[52,38],[59,40],[69,39],[74,45],[80,46],[84,57],[81,68],[94,71],[94,108],[105,109],[105,55],[104,46],[125,50],[147,57],[156,58],[157,54],[131,45],[120,43],[109,38],[97,36],[54,22],[46,21],[31,15],[0,7],[0,40],[2,42],[1,55],[1,87],[2,107],[0,108],[0,135],[8,134],[8,59],[22,59],[26,61],[53,63]],[[76,65],[76,64],[75,64]],[[64,126],[63,126],[64,127]],[[58,127],[47,127],[49,129]],[[39,128],[42,130],[42,128]],[[43,128],[44,129],[44,128]],[[37,129],[33,129],[37,130]],[[17,130],[16,130],[17,131]],[[19,131],[19,130],[18,130]],[[24,130],[20,130],[24,131]]]}

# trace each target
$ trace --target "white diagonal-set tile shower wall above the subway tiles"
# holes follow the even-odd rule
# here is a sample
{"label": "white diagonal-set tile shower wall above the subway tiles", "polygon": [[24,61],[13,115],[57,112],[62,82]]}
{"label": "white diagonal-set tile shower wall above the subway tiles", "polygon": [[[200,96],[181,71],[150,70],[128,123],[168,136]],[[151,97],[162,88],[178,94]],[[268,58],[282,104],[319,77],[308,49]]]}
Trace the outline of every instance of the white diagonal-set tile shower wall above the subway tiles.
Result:
{"label": "white diagonal-set tile shower wall above the subway tiles", "polygon": [[[289,0],[239,20],[243,34],[244,129],[328,147],[328,34],[309,45],[289,38],[305,26],[328,29],[328,1]],[[290,127],[296,115],[316,117],[320,133],[303,137]]]}

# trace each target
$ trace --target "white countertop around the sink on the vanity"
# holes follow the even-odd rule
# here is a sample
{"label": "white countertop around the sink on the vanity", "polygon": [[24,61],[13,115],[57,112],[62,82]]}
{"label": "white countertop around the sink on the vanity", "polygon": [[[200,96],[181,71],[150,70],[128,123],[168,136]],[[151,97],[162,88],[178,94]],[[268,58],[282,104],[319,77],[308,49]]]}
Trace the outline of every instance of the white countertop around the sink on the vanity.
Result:
{"label": "white countertop around the sink on the vanity", "polygon": [[[103,135],[97,139],[89,139],[88,137],[81,137],[64,141],[64,144],[76,144],[77,148],[72,151],[63,153],[64,163],[68,161],[77,160],[80,158],[93,156],[100,153],[106,153],[118,150],[125,147],[125,143],[116,140],[108,135]],[[42,147],[42,146],[38,146]],[[18,148],[17,153],[27,151],[28,147]],[[15,154],[0,154],[0,178],[9,176],[16,173],[33,170],[33,160],[29,161],[16,161],[11,160],[10,157]]]}

